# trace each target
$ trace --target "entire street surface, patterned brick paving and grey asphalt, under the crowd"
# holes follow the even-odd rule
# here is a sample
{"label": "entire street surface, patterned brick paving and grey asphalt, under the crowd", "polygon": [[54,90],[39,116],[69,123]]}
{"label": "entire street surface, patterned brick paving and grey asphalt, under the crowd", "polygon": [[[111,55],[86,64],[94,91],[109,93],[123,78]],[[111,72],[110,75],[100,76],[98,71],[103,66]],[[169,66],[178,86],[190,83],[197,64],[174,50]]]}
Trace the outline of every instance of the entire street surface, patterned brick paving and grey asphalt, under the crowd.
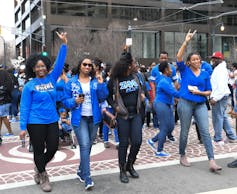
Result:
{"label": "entire street surface, patterned brick paving and grey asphalt, under the crowd", "polygon": [[[230,119],[235,128],[235,120]],[[19,133],[19,123],[13,123],[15,135]],[[178,136],[180,126],[174,130],[176,142],[167,142],[165,150],[171,154],[167,158],[156,158],[146,144],[146,140],[157,131],[144,128],[143,144],[136,161],[135,168],[139,170],[138,180],[130,179],[129,184],[121,184],[118,179],[117,150],[112,137],[111,147],[105,149],[98,142],[92,150],[92,177],[95,181],[93,193],[200,193],[212,190],[237,187],[236,171],[226,164],[237,156],[237,143],[226,143],[224,146],[213,144],[218,164],[223,167],[221,175],[208,171],[208,163],[203,145],[199,144],[196,132],[192,126],[189,134],[187,155],[192,162],[191,168],[179,165]],[[210,131],[213,130],[210,120]],[[6,130],[2,130],[2,134]],[[26,143],[28,145],[28,141]],[[50,180],[53,182],[53,193],[84,192],[84,185],[75,179],[79,152],[70,146],[62,146],[48,166]],[[32,154],[27,148],[21,147],[17,136],[4,137],[0,147],[0,193],[42,193],[33,181]],[[233,191],[233,189],[232,189]],[[236,191],[236,190],[235,190]],[[231,193],[221,191],[221,193]],[[235,192],[236,193],[236,192]]]}

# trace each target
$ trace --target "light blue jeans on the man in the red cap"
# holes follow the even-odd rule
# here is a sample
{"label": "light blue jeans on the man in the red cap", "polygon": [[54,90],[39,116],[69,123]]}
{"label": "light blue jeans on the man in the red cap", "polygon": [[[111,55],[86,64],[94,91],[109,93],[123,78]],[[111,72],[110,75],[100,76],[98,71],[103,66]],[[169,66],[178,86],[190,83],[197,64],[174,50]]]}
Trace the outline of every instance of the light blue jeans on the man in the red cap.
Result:
{"label": "light blue jeans on the man in the red cap", "polygon": [[228,96],[223,97],[212,106],[212,124],[214,127],[215,135],[214,141],[222,140],[222,129],[224,129],[226,136],[229,139],[236,139],[234,131],[231,129],[228,117],[225,113],[227,108]]}

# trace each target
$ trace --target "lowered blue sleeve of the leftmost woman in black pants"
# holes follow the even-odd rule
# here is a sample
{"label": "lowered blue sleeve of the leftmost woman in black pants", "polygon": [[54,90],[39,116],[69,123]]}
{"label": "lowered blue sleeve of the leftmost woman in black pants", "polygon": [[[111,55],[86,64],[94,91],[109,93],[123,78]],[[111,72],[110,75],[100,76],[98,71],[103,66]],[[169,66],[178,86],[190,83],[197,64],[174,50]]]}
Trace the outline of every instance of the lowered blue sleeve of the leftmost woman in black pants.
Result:
{"label": "lowered blue sleeve of the leftmost woman in black pants", "polygon": [[20,129],[23,131],[27,129],[31,103],[32,103],[32,92],[30,90],[29,85],[25,85],[21,94],[21,103],[20,103]]}

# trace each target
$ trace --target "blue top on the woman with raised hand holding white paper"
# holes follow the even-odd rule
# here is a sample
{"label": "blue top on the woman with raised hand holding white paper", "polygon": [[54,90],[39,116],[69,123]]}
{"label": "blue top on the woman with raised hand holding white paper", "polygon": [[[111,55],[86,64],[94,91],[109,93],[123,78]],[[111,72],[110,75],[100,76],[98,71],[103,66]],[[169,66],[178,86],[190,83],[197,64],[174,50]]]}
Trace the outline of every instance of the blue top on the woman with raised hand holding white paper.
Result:
{"label": "blue top on the woman with raised hand holding white paper", "polygon": [[188,90],[188,86],[196,86],[198,90],[200,91],[210,91],[211,88],[211,82],[210,82],[210,75],[207,71],[202,70],[200,71],[200,74],[196,76],[192,70],[185,65],[184,61],[177,62],[177,66],[179,68],[179,72],[181,75],[181,87],[180,87],[180,98],[202,103],[206,101],[206,96],[201,96],[197,94],[192,94]]}

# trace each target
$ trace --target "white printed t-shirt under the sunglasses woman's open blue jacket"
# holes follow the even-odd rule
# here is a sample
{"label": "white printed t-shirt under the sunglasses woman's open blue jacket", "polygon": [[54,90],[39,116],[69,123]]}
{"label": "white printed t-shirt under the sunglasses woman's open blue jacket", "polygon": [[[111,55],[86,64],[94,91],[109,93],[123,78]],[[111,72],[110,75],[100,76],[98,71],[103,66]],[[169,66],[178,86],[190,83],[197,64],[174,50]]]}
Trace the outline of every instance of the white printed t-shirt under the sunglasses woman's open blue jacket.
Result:
{"label": "white printed t-shirt under the sunglasses woman's open blue jacket", "polygon": [[84,102],[82,103],[81,115],[92,116],[91,90],[90,82],[81,83],[83,94],[85,94]]}

